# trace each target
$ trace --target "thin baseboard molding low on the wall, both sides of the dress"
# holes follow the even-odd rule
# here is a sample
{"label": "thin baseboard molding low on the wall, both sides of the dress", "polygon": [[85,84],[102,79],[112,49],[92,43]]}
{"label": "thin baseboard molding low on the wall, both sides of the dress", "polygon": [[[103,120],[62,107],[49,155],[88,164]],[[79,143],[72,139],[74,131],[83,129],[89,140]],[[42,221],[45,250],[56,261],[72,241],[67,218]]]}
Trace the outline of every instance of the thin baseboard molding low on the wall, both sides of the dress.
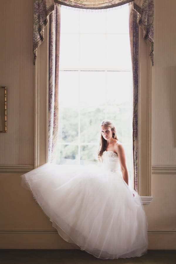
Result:
{"label": "thin baseboard molding low on the wall, both sides of the dress", "polygon": [[[2,229],[0,230],[1,234],[53,234],[58,235],[56,229]],[[176,230],[148,230],[148,234],[176,234]]]}

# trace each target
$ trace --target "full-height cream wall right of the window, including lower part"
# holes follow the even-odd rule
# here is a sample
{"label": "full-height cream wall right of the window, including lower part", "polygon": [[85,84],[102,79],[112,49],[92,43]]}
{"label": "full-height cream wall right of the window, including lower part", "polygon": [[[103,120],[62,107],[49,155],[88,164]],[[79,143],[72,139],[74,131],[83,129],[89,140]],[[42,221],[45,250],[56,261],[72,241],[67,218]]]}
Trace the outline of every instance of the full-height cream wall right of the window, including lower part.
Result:
{"label": "full-height cream wall right of the window, including lower part", "polygon": [[145,211],[150,248],[176,249],[176,1],[155,0],[154,4],[153,201]]}

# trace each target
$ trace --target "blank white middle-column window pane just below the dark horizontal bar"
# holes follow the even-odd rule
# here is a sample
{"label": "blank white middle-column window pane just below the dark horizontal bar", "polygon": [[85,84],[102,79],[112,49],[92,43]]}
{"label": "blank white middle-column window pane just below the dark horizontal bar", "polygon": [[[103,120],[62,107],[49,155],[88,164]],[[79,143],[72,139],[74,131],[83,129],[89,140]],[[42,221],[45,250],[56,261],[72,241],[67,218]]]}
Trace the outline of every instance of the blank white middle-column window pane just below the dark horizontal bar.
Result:
{"label": "blank white middle-column window pane just below the dark horizontal bar", "polygon": [[80,72],[80,106],[101,106],[105,104],[106,73]]}

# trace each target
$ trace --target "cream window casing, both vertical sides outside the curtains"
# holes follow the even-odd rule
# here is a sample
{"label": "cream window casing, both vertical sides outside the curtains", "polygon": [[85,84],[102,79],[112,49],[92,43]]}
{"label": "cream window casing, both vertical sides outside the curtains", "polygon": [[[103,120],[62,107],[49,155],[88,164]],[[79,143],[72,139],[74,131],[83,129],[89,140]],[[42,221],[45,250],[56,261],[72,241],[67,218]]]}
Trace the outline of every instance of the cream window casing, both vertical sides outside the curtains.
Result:
{"label": "cream window casing, both vertical sides outside the curtains", "polygon": [[[48,69],[49,25],[45,41],[39,46],[35,63],[35,167],[48,162]],[[149,47],[139,27],[139,89],[138,89],[138,194],[143,204],[151,196],[151,82],[152,62]]]}

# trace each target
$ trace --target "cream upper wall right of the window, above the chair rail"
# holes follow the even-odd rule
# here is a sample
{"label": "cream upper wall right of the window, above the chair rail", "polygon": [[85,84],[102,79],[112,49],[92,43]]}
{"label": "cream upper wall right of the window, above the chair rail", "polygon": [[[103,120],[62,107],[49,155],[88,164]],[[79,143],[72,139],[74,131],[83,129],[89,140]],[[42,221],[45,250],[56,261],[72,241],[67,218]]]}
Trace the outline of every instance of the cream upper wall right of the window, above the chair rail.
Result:
{"label": "cream upper wall right of the window, above the chair rail", "polygon": [[176,165],[176,1],[155,0],[152,165]]}

